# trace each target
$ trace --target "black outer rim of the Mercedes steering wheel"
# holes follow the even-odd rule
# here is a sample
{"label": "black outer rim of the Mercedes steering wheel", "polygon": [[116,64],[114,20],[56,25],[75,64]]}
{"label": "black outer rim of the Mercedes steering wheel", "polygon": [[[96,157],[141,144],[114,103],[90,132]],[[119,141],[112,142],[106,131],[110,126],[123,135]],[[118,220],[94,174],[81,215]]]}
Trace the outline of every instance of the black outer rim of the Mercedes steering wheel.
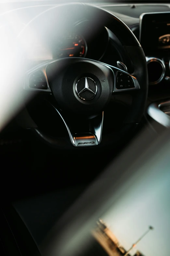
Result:
{"label": "black outer rim of the Mercedes steering wheel", "polygon": [[[71,18],[69,18],[70,20],[76,20],[77,18],[85,19],[88,17],[90,21],[93,21],[94,23],[99,22],[99,25],[106,26],[108,29],[110,29],[118,37],[127,55],[131,59],[134,67],[134,72],[131,75],[137,78],[137,81],[140,85],[140,90],[136,91],[135,98],[133,99],[131,105],[131,110],[126,116],[126,119],[124,120],[124,127],[120,131],[120,133],[123,130],[130,129],[130,124],[137,124],[140,122],[145,111],[148,94],[147,64],[145,54],[140,46],[140,43],[138,42],[132,31],[120,19],[104,9],[89,4],[69,3],[57,5],[36,16],[28,25],[35,28],[38,24],[41,24],[41,26],[43,26],[44,30],[46,31],[46,29],[48,29],[50,21],[54,21],[54,17],[56,17],[57,14],[58,17],[62,17],[64,16],[64,14],[68,13],[68,10],[69,13],[71,13]],[[45,22],[44,18],[48,13],[50,13],[50,21],[48,20],[48,22]],[[102,17],[102,19],[99,20],[98,17]],[[27,31],[26,28],[27,26],[20,33],[19,38],[24,37]],[[67,140],[62,138],[51,138],[46,133],[42,132],[39,128],[37,128],[35,124],[32,125],[31,129],[36,135],[38,135],[38,137],[40,137],[44,142],[48,143],[49,145],[52,145],[56,148],[73,148],[70,142],[68,142]],[[112,143],[112,140],[115,140],[115,136],[112,137],[110,134],[106,135],[105,137],[106,138],[102,139],[105,139],[107,141],[107,144],[110,144]]]}

